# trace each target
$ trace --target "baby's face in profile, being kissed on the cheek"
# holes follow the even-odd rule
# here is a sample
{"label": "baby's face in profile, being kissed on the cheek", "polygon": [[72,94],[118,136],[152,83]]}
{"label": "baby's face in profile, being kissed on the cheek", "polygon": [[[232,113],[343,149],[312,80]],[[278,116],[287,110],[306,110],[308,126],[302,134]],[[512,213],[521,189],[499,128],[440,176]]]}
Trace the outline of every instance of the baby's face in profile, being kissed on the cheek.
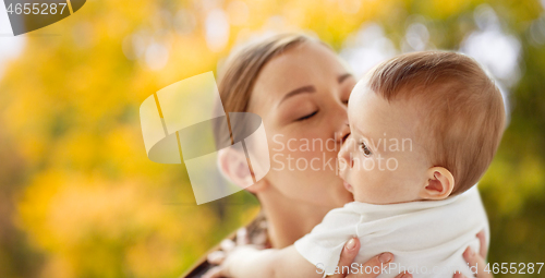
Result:
{"label": "baby's face in profile, being kissed on the cheek", "polygon": [[388,102],[361,81],[350,96],[348,114],[351,135],[339,153],[340,177],[354,200],[371,204],[420,200],[432,165],[416,136],[419,104]]}

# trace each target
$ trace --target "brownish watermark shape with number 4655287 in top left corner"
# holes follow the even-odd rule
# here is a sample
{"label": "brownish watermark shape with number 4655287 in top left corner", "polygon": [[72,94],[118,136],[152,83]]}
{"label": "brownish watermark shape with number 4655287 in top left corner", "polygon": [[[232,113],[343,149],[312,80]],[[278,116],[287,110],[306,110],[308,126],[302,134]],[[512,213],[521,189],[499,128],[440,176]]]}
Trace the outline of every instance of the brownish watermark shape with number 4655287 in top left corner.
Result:
{"label": "brownish watermark shape with number 4655287 in top left corner", "polygon": [[85,0],[3,0],[14,36],[53,24],[78,11]]}

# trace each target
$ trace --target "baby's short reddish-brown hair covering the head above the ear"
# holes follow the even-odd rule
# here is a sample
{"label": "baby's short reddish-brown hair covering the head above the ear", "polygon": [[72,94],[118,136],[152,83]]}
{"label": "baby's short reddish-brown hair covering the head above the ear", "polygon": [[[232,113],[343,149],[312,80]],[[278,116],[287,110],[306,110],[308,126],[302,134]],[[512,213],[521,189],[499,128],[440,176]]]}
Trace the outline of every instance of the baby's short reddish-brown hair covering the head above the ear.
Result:
{"label": "baby's short reddish-brown hair covering the head above the ear", "polygon": [[469,190],[488,168],[505,129],[494,81],[473,59],[449,51],[397,56],[370,74],[370,88],[388,101],[419,101],[417,138],[431,164],[455,178],[451,195]]}

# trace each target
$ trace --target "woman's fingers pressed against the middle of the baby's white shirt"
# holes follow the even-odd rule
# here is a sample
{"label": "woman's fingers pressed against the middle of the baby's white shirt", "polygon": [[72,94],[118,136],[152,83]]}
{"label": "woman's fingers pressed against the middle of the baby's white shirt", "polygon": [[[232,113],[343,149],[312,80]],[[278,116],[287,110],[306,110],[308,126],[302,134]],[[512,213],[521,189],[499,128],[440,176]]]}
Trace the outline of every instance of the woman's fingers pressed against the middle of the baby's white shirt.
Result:
{"label": "woman's fingers pressed against the middle of the baby's white shirt", "polygon": [[[358,252],[360,252],[360,240],[358,238],[353,238],[344,244],[344,247],[342,249],[341,256],[339,259],[339,269],[342,270],[342,267],[344,268],[350,268],[351,264],[354,262],[354,257],[358,255]],[[331,278],[375,278],[380,275],[380,269],[383,264],[388,264],[390,262],[393,262],[393,254],[385,252],[382,254],[378,254],[374,257],[372,257],[370,261],[367,261],[365,264],[363,264],[362,267],[359,267],[358,269],[376,269],[371,271],[370,274],[365,273],[365,270],[358,271],[358,274],[336,274],[332,275]],[[342,273],[342,271],[341,271]],[[396,276],[396,278],[412,278],[412,275],[410,274],[399,274]]]}

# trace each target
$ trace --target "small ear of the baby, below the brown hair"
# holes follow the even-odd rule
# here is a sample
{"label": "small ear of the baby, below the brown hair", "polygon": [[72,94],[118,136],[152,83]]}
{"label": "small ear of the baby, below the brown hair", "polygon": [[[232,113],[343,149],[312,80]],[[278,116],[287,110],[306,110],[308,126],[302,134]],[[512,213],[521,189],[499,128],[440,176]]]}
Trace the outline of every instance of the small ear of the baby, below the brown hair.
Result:
{"label": "small ear of the baby, below the brown hair", "polygon": [[444,167],[432,167],[426,171],[427,182],[420,192],[424,200],[447,198],[455,189],[455,177]]}

